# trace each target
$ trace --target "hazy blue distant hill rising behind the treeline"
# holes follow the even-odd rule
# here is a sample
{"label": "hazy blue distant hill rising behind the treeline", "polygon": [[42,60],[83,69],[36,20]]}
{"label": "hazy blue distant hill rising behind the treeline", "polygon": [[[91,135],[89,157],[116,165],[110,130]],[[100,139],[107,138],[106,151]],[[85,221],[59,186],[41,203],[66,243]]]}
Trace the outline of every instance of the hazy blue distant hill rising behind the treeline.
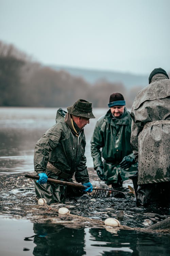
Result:
{"label": "hazy blue distant hill rising behind the treeline", "polygon": [[144,87],[148,84],[148,75],[135,75],[131,73],[105,71],[105,70],[92,70],[92,69],[80,69],[71,68],[67,66],[49,66],[54,70],[64,70],[73,76],[83,77],[90,84],[94,84],[99,80],[107,80],[108,82],[120,82],[126,88],[132,88],[134,86]]}

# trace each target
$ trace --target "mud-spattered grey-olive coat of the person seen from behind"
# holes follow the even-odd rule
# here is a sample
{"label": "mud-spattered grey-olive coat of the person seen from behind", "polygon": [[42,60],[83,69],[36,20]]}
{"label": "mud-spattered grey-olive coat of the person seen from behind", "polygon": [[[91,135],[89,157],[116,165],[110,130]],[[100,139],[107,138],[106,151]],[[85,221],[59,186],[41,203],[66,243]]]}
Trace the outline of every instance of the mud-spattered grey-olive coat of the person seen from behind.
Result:
{"label": "mud-spattered grey-olive coat of the person seen from behind", "polygon": [[138,184],[170,181],[170,80],[156,74],[131,109],[131,145],[138,158]]}

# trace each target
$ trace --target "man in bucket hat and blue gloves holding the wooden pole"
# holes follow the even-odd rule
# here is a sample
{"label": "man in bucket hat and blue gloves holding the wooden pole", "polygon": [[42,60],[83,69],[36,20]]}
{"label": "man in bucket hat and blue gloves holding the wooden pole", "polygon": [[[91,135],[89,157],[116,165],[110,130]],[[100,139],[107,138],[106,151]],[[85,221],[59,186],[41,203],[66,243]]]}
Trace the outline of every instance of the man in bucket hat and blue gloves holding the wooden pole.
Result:
{"label": "man in bucket hat and blue gloves holding the wooden pole", "polygon": [[84,126],[89,124],[92,103],[83,99],[77,100],[67,111],[58,109],[56,124],[38,140],[34,151],[35,182],[37,198],[45,198],[48,204],[61,202],[69,196],[80,196],[82,191],[59,184],[47,183],[48,178],[72,181],[87,186],[84,191],[91,192],[92,185],[86,167]]}

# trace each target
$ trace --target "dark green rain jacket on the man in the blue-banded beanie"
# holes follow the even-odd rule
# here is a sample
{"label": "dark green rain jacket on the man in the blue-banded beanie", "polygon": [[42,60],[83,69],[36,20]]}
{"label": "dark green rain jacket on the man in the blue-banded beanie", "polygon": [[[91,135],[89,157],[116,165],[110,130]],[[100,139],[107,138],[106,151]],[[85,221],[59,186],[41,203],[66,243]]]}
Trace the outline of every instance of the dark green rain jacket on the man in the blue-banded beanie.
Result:
{"label": "dark green rain jacket on the man in the blue-banded beanie", "polygon": [[[117,183],[118,174],[122,180],[127,180],[130,175],[136,172],[136,166],[122,169],[119,163],[124,156],[135,158],[130,145],[131,138],[131,116],[124,108],[121,118],[115,119],[109,109],[106,115],[100,117],[96,123],[91,138],[91,156],[94,168],[104,167],[103,172],[107,176],[107,183]],[[100,150],[102,148],[102,150]],[[104,161],[102,162],[102,157]]]}

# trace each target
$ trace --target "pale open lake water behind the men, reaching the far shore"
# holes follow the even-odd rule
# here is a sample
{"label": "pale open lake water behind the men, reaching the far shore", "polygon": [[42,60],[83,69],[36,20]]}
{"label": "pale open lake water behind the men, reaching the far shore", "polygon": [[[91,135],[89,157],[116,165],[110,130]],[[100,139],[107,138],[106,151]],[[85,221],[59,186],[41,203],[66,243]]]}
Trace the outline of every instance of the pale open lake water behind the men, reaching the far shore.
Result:
{"label": "pale open lake water behind the men, reaching the far shore", "polygon": [[[33,154],[37,140],[55,124],[58,108],[0,108],[0,174],[33,171]],[[66,110],[66,108],[63,108]],[[87,167],[93,167],[90,139],[97,119],[108,109],[94,109],[86,136]]]}

